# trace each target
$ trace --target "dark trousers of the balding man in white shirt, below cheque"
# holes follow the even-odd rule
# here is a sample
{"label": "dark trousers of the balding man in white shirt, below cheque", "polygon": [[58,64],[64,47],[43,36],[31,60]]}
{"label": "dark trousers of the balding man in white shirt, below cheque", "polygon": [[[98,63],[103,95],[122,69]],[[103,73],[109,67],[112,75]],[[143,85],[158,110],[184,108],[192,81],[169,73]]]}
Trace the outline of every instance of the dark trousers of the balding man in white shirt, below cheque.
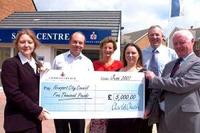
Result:
{"label": "dark trousers of the balding man in white shirt, below cheque", "polygon": [[55,119],[54,124],[56,133],[69,133],[69,126],[71,133],[84,133],[85,130],[84,119]]}

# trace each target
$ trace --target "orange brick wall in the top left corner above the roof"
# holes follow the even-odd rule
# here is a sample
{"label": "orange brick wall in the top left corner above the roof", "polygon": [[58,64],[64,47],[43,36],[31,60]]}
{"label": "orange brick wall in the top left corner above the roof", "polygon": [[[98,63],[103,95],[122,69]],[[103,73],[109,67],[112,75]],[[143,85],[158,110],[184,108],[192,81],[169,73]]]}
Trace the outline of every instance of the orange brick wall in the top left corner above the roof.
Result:
{"label": "orange brick wall in the top left corner above the roof", "polygon": [[0,0],[0,21],[13,12],[36,11],[33,0]]}

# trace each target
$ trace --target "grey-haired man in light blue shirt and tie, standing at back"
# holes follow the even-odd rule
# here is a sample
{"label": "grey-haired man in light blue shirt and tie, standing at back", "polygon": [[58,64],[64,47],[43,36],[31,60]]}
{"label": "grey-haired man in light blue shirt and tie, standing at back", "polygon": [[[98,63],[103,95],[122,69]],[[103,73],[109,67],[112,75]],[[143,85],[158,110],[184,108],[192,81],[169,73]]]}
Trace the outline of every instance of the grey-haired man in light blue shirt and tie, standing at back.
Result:
{"label": "grey-haired man in light blue shirt and tie, standing at back", "polygon": [[[163,45],[164,35],[162,28],[159,25],[153,25],[148,29],[148,39],[150,42],[150,46],[143,49],[142,51],[144,68],[147,70],[154,71],[154,73],[156,73],[157,76],[161,76],[165,65],[168,62],[177,58],[176,52],[173,49]],[[152,62],[152,60],[154,62]],[[156,66],[156,68],[153,68],[152,65],[153,67]],[[155,104],[158,104],[157,97],[159,95],[158,91],[156,90],[152,91],[151,89],[149,89],[148,93],[149,94],[146,94],[149,95],[148,99],[146,100],[147,101],[145,110],[146,118],[148,118],[149,116],[152,115],[152,113],[154,113],[152,109],[154,108]],[[152,122],[154,121],[152,120]],[[149,120],[150,124],[152,124],[152,122],[150,122]],[[145,128],[146,128],[145,133],[152,133],[152,126],[148,127],[148,125],[146,125],[144,129]]]}

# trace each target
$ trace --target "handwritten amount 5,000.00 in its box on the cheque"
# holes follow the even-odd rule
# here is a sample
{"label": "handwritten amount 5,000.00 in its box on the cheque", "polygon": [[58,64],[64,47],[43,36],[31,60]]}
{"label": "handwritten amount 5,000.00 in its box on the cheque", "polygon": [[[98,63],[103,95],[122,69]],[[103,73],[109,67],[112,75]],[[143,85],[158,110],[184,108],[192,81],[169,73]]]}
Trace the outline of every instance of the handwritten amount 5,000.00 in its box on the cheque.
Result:
{"label": "handwritten amount 5,000.00 in its box on the cheque", "polygon": [[133,93],[127,93],[127,94],[124,94],[124,93],[115,93],[113,95],[113,100],[114,101],[129,101],[129,100],[134,100],[136,99],[136,95],[133,94]]}

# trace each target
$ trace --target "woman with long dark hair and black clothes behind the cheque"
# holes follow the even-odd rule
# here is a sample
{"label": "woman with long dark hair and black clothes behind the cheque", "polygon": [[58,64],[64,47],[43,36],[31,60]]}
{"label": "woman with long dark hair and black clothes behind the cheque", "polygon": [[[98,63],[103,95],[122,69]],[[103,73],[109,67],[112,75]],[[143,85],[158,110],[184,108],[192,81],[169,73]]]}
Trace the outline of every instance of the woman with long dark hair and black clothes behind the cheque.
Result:
{"label": "woman with long dark hair and black clothes behind the cheque", "polygon": [[[123,72],[143,72],[142,52],[134,43],[128,43],[123,50],[124,67],[119,71]],[[145,89],[145,103],[149,97],[148,89]],[[147,119],[126,118],[111,119],[108,121],[107,133],[145,133],[143,132],[148,125]]]}

